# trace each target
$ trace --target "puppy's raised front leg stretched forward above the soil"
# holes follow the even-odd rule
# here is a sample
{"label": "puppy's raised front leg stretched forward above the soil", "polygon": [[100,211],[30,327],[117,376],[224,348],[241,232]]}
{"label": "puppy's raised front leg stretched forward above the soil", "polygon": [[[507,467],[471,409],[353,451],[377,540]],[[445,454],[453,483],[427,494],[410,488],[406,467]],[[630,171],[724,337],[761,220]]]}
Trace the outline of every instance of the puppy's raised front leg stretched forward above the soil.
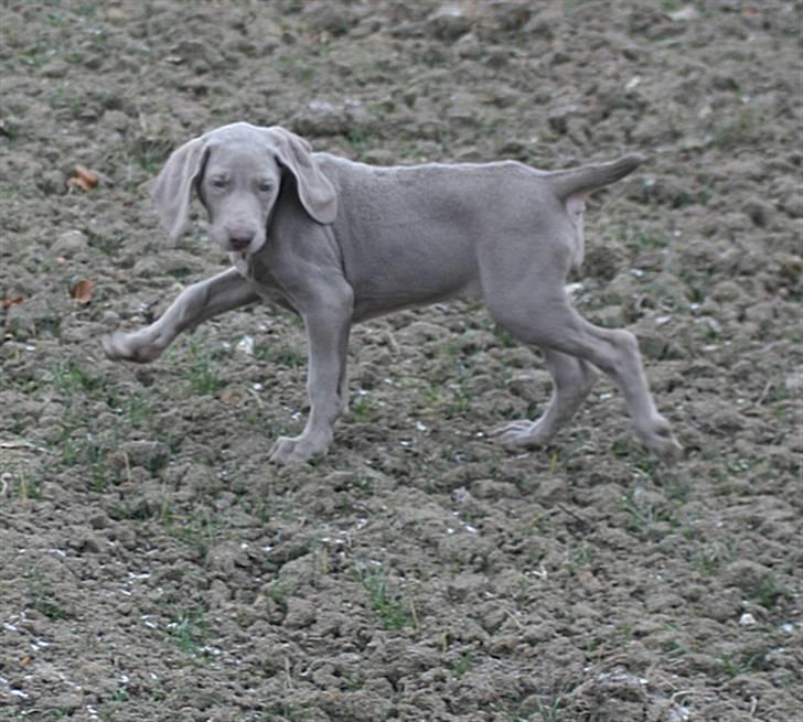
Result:
{"label": "puppy's raised front leg stretched forward above the soil", "polygon": [[184,289],[162,316],[139,331],[117,331],[101,338],[109,358],[152,362],[188,328],[212,316],[256,301],[259,297],[250,281],[234,268]]}

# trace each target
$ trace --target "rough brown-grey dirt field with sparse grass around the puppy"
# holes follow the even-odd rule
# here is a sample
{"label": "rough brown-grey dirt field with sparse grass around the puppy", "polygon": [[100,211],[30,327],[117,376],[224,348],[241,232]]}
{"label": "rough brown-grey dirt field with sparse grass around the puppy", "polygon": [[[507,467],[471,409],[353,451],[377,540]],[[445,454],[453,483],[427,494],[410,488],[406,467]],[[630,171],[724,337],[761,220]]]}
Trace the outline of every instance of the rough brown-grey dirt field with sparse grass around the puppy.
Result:
{"label": "rough brown-grey dirt field with sparse grass around the puppy", "polygon": [[[803,719],[801,12],[0,0],[0,719]],[[478,305],[355,328],[311,465],[267,463],[306,413],[289,314],[107,362],[227,265],[200,208],[167,241],[148,183],[240,119],[381,164],[649,155],[571,281],[685,459],[607,382],[504,453],[550,385]]]}

